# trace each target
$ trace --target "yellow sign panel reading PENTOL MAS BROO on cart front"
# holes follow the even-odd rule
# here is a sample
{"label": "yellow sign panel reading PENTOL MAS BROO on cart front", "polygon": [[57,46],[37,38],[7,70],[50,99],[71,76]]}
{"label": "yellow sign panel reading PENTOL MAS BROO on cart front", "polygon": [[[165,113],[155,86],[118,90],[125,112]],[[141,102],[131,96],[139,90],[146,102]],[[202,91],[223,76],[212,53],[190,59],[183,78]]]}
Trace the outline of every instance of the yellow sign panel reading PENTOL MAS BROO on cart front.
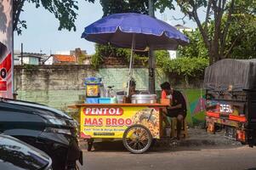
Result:
{"label": "yellow sign panel reading PENTOL MAS BROO on cart front", "polygon": [[80,136],[90,138],[121,138],[131,125],[147,127],[153,138],[160,138],[159,110],[142,106],[82,107]]}

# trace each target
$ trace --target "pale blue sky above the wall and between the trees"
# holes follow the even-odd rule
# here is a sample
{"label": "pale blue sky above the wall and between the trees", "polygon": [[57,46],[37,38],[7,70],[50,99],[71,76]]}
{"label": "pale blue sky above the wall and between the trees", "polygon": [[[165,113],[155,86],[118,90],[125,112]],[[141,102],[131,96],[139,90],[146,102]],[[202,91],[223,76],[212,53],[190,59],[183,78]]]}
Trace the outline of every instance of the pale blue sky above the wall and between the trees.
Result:
{"label": "pale blue sky above the wall and between the trees", "polygon": [[[102,7],[99,1],[88,3],[82,0],[79,1],[78,7],[75,23],[77,31],[58,31],[59,20],[54,18],[54,14],[44,8],[35,8],[33,3],[26,3],[20,19],[26,20],[27,29],[23,29],[21,36],[14,32],[14,50],[20,50],[21,43],[23,43],[23,51],[28,53],[58,54],[58,52],[63,53],[81,48],[88,54],[94,54],[94,42],[82,39],[81,35],[84,27],[102,17]],[[165,20],[172,26],[183,25],[183,21],[173,19],[173,17],[181,18],[182,16],[178,7],[175,10],[166,10],[164,14],[156,11],[157,19]],[[199,16],[202,17],[203,12]],[[188,19],[185,21],[185,26],[196,27],[195,22]]]}

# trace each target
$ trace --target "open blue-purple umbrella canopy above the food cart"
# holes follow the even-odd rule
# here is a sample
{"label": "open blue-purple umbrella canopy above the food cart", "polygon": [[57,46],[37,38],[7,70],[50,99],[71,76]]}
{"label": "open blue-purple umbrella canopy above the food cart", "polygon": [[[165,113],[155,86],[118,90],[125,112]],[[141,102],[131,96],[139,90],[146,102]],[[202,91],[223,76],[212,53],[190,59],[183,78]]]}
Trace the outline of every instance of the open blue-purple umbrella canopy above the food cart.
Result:
{"label": "open blue-purple umbrella canopy above the food cart", "polygon": [[85,27],[82,38],[120,48],[177,49],[189,43],[188,37],[173,26],[149,15],[111,14]]}

